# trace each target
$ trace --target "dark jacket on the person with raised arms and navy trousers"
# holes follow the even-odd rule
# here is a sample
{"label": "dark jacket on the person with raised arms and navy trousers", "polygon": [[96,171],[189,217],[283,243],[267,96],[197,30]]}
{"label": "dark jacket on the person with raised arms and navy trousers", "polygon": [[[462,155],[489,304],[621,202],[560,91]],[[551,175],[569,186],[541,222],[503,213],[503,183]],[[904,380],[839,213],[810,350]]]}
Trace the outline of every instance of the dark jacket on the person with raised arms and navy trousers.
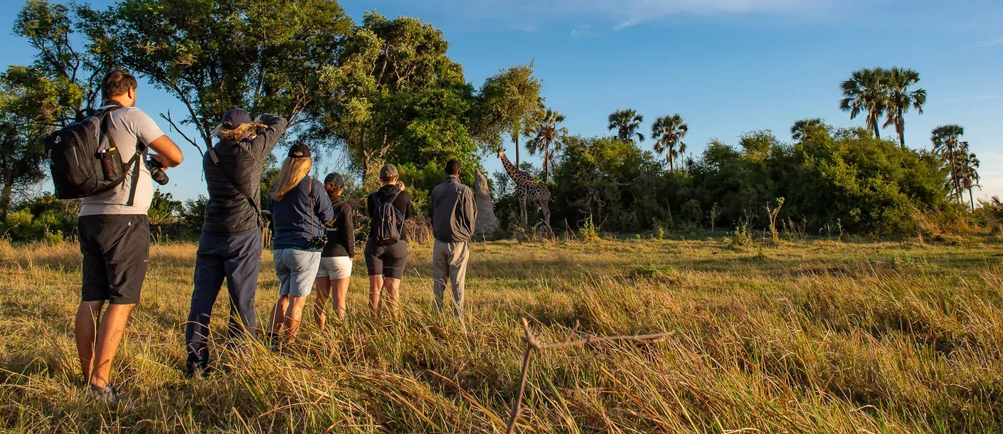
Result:
{"label": "dark jacket on the person with raised arms and navy trousers", "polygon": [[[230,236],[259,229],[258,212],[240,191],[256,202],[261,200],[261,171],[268,154],[272,153],[288,125],[286,119],[270,114],[263,114],[261,121],[268,125],[268,129],[259,131],[253,140],[238,142],[221,139],[214,146],[219,164],[213,161],[208,151],[203,156],[202,166],[209,188],[203,234]],[[238,185],[234,185],[223,170],[233,173],[231,177]]]}

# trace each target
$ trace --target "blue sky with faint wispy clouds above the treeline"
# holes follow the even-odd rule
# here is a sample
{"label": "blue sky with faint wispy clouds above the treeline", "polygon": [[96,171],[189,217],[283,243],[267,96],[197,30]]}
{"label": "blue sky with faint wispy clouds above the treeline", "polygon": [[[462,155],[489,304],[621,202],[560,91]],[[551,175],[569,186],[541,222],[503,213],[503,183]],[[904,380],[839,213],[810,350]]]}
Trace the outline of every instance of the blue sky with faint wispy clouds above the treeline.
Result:
{"label": "blue sky with faint wispy clouds above the treeline", "polygon": [[[19,2],[6,0],[14,6]],[[107,1],[97,1],[106,4]],[[450,43],[449,55],[475,86],[499,69],[535,60],[547,104],[572,133],[606,133],[606,116],[634,108],[650,122],[679,112],[685,142],[699,154],[711,138],[746,131],[788,138],[797,119],[862,124],[839,110],[839,84],[861,67],[918,70],[928,101],[911,112],[906,139],[930,147],[930,130],[965,127],[982,160],[984,189],[1003,195],[1003,2],[990,0],[369,0],[343,1],[355,18],[376,9],[421,18]],[[0,17],[10,29],[13,14]],[[3,64],[30,61],[30,48],[0,34]],[[140,90],[147,112],[182,106]],[[161,124],[166,130],[166,125]],[[894,130],[886,129],[885,135]],[[176,197],[205,191],[195,148],[172,170]],[[650,147],[646,141],[642,146]],[[511,145],[510,145],[511,147]],[[509,149],[512,153],[513,149]],[[525,155],[525,152],[524,152]],[[337,159],[337,158],[334,158]],[[333,160],[333,159],[332,159]],[[500,169],[492,155],[489,170]]]}

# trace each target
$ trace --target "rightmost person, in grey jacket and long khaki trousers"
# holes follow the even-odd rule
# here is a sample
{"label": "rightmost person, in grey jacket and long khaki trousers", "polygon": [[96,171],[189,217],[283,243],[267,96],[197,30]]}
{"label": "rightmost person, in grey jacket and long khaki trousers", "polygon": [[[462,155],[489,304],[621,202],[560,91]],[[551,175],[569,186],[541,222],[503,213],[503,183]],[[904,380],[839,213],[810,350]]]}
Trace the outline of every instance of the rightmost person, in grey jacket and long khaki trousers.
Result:
{"label": "rightmost person, in grey jacket and long khaki trousers", "polygon": [[477,221],[473,191],[459,183],[459,161],[445,164],[445,181],[432,188],[432,293],[435,308],[441,312],[445,281],[452,283],[453,314],[463,318],[463,291],[466,286],[466,262],[470,258],[470,237]]}

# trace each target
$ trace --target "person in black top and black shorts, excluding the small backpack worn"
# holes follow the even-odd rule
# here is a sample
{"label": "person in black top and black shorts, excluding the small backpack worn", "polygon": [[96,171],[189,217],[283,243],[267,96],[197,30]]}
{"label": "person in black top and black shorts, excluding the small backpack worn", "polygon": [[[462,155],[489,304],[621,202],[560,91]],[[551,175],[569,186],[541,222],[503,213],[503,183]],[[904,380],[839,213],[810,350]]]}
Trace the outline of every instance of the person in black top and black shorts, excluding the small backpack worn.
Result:
{"label": "person in black top and black shorts, excluding the small backpack worn", "polygon": [[369,308],[373,316],[380,310],[380,295],[386,292],[390,313],[396,315],[399,310],[400,281],[404,278],[404,268],[407,266],[407,235],[405,229],[400,229],[400,239],[389,246],[380,246],[373,240],[376,233],[375,219],[376,201],[391,203],[403,215],[404,220],[411,218],[411,194],[405,191],[404,183],[400,182],[397,167],[386,164],[379,170],[379,179],[383,186],[369,194],[366,208],[369,214],[369,239],[366,240],[366,269],[369,273]]}

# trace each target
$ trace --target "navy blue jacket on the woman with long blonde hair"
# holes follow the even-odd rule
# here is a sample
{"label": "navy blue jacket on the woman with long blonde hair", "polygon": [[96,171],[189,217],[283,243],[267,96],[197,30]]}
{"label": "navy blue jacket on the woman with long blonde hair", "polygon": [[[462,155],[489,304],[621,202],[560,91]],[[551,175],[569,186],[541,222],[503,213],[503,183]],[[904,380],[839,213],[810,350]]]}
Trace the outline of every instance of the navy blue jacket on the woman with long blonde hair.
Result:
{"label": "navy blue jacket on the woman with long blonde hair", "polygon": [[[269,199],[269,203],[275,225],[273,250],[306,250],[310,239],[325,236],[326,226],[334,220],[331,199],[327,197],[324,184],[311,176],[304,176],[282,200]],[[320,251],[319,248],[317,250]]]}

